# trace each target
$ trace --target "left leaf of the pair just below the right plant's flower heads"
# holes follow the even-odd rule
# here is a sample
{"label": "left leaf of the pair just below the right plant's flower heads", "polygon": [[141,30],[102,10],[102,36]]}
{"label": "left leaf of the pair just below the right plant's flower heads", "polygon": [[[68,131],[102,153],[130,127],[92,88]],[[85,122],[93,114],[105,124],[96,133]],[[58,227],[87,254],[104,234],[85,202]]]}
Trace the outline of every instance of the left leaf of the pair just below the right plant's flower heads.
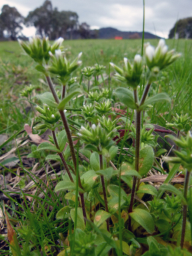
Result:
{"label": "left leaf of the pair just below the right plant's flower heads", "polygon": [[125,104],[130,109],[137,109],[137,105],[135,105],[133,92],[127,88],[119,87],[115,91],[115,95],[119,98],[121,103]]}

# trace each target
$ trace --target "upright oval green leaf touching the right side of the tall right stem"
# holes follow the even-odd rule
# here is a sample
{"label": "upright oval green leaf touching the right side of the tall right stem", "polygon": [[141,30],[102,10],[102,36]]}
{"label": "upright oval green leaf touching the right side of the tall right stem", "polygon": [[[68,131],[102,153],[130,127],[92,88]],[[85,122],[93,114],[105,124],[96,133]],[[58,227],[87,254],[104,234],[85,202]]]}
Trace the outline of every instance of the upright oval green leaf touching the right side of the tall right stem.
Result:
{"label": "upright oval green leaf touching the right side of the tall right stem", "polygon": [[154,152],[151,146],[143,147],[139,155],[139,174],[141,176],[148,173],[154,161]]}

